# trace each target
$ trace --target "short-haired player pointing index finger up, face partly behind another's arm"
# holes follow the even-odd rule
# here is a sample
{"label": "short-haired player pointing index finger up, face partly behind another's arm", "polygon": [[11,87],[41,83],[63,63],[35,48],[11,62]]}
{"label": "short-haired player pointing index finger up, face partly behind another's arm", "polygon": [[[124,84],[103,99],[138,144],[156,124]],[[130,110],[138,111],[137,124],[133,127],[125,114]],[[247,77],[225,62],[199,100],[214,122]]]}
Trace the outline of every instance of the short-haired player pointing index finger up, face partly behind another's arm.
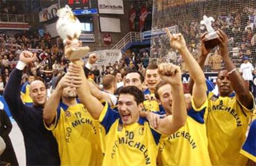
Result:
{"label": "short-haired player pointing index finger up, face partly behind another's arm", "polygon": [[[158,164],[211,165],[205,125],[208,101],[204,73],[187,49],[183,36],[181,34],[171,35],[168,29],[166,31],[171,47],[180,52],[195,84],[191,99],[192,108],[187,110],[186,124],[170,135],[167,140],[160,141]],[[173,94],[168,79],[164,79],[156,86],[155,96],[160,100],[164,114],[172,114]]]}

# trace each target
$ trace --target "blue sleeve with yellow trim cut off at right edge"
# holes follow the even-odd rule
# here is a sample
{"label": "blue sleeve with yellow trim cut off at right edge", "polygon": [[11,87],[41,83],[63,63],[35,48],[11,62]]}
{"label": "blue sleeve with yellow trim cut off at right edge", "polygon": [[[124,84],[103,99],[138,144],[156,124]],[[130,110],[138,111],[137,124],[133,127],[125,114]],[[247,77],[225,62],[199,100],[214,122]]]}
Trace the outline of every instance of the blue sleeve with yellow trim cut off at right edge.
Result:
{"label": "blue sleeve with yellow trim cut off at right edge", "polygon": [[256,162],[256,114],[252,117],[252,124],[240,153]]}

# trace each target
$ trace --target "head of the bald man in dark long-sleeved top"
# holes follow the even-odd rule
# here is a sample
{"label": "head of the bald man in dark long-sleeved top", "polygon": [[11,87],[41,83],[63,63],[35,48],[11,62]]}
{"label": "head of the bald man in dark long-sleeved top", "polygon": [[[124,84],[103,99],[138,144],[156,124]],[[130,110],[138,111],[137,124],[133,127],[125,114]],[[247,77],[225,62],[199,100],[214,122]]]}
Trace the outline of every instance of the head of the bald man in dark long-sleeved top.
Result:
{"label": "head of the bald man in dark long-sleeved top", "polygon": [[33,81],[29,86],[30,98],[35,106],[45,105],[47,91],[45,84],[40,80]]}

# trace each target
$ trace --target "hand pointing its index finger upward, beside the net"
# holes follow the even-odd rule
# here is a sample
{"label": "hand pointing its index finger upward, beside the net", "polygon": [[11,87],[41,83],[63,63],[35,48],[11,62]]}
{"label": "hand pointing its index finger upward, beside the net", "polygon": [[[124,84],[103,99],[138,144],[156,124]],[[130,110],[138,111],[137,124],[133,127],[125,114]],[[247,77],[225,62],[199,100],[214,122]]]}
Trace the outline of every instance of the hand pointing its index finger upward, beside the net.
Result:
{"label": "hand pointing its index finger upward, beside the net", "polygon": [[173,49],[184,49],[186,48],[186,41],[181,33],[171,34],[168,28],[165,28],[167,35],[169,36],[170,46]]}

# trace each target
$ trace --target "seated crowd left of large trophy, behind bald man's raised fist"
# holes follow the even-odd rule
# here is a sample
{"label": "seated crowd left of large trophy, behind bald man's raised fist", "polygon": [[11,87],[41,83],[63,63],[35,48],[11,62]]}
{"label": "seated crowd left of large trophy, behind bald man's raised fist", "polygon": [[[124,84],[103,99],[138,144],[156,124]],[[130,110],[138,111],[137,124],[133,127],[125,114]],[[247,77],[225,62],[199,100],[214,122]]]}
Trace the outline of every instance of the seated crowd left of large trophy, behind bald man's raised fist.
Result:
{"label": "seated crowd left of large trophy, behind bald man's raised fist", "polygon": [[24,82],[27,81],[28,75],[33,75],[47,85],[54,75],[65,72],[67,69],[69,60],[63,56],[63,49],[62,41],[59,41],[58,46],[53,44],[48,33],[43,36],[35,31],[0,35],[0,94],[22,51],[32,51],[37,57],[37,60],[25,71]]}

